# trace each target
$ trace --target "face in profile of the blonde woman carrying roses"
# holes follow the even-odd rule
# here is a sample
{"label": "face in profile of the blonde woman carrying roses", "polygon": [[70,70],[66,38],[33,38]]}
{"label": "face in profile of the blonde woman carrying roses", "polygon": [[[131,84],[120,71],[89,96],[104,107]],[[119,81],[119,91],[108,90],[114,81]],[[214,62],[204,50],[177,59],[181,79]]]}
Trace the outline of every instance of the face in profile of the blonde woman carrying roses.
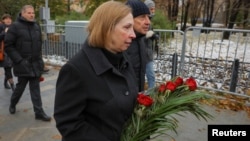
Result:
{"label": "face in profile of the blonde woman carrying roses", "polygon": [[133,25],[134,20],[130,13],[115,25],[115,28],[111,32],[111,44],[106,49],[113,53],[127,50],[132,39],[136,37]]}

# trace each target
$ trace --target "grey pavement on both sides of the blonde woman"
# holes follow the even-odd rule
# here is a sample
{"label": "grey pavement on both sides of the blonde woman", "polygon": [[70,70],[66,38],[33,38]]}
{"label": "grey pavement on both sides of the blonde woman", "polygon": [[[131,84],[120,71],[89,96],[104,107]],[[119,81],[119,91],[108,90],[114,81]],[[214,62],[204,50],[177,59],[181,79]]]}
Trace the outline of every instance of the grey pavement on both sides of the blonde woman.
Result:
{"label": "grey pavement on both sides of the blonde woman", "polygon": [[[53,115],[57,75],[58,69],[50,67],[50,71],[43,75],[45,81],[41,82],[43,107],[50,116]],[[51,122],[35,120],[28,87],[16,107],[16,114],[9,113],[12,91],[4,88],[3,80],[3,69],[0,68],[0,141],[60,141],[60,134],[55,128],[54,120]],[[234,112],[206,105],[204,108],[214,116],[214,119],[206,122],[196,119],[189,113],[185,114],[185,117],[177,116],[178,135],[168,132],[173,138],[161,136],[151,141],[207,141],[208,124],[250,124],[250,118],[244,111]]]}

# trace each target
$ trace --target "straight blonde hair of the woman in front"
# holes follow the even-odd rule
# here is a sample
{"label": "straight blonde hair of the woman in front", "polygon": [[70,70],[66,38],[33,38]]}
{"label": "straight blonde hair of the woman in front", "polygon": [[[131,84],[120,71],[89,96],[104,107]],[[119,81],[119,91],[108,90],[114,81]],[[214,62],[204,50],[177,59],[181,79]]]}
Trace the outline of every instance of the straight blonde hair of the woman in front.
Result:
{"label": "straight blonde hair of the woman in front", "polygon": [[131,12],[129,6],[118,1],[108,1],[101,4],[94,11],[87,27],[88,44],[100,48],[108,45],[111,42],[111,32],[115,25]]}

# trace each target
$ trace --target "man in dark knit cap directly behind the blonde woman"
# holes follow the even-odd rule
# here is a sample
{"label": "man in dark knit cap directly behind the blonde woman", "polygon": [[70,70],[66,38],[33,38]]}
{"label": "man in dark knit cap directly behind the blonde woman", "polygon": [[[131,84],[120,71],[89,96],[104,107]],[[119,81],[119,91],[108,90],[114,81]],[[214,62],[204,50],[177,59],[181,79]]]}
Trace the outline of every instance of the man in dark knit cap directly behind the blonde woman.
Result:
{"label": "man in dark knit cap directly behind the blonde woman", "polygon": [[126,51],[132,61],[133,68],[137,78],[139,91],[144,91],[146,63],[149,61],[146,56],[145,35],[149,31],[150,26],[150,11],[148,7],[140,0],[128,0],[126,5],[129,5],[133,11],[134,31],[136,38],[133,39],[131,46]]}

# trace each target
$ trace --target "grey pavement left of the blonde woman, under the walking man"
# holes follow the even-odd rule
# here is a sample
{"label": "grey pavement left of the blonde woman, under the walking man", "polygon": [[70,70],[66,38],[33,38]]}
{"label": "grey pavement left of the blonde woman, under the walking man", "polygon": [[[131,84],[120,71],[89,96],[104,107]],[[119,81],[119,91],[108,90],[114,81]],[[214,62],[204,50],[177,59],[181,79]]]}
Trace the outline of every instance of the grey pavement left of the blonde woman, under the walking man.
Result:
{"label": "grey pavement left of the blonde woman, under the walking man", "polygon": [[[43,75],[45,81],[40,84],[44,111],[50,116],[53,115],[57,75],[58,70],[50,67],[50,71]],[[60,141],[54,119],[51,122],[35,120],[28,86],[16,106],[16,113],[9,113],[12,91],[4,88],[3,80],[3,69],[0,68],[0,141]]]}

